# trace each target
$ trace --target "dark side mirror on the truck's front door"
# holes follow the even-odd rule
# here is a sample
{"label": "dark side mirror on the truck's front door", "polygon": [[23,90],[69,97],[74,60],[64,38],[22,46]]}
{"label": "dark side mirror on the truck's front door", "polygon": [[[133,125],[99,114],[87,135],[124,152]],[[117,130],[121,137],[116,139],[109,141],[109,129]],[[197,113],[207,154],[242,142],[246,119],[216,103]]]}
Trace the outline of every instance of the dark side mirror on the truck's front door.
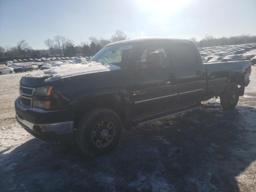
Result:
{"label": "dark side mirror on the truck's front door", "polygon": [[162,66],[163,52],[152,52],[147,56],[147,64],[150,70],[158,70]]}

